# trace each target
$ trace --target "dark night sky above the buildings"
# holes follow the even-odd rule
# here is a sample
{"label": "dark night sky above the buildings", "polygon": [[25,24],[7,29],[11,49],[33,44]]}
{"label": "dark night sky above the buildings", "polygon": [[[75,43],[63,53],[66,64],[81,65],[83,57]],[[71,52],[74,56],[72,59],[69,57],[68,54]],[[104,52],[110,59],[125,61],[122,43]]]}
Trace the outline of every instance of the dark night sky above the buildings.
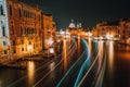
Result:
{"label": "dark night sky above the buildings", "polygon": [[57,29],[65,28],[73,18],[83,27],[93,27],[101,21],[130,17],[129,0],[22,0],[38,4],[43,13],[53,15]]}

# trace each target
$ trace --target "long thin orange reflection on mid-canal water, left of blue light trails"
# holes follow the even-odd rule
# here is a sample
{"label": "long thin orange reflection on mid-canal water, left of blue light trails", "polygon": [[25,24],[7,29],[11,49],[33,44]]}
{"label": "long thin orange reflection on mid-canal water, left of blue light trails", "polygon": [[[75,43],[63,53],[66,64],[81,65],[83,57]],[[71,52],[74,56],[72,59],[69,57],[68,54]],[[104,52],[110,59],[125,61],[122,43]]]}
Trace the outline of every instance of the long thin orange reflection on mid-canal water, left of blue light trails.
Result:
{"label": "long thin orange reflection on mid-canal water, left of blue light trails", "polygon": [[66,40],[63,41],[63,60],[64,60],[64,72],[67,71],[67,48]]}

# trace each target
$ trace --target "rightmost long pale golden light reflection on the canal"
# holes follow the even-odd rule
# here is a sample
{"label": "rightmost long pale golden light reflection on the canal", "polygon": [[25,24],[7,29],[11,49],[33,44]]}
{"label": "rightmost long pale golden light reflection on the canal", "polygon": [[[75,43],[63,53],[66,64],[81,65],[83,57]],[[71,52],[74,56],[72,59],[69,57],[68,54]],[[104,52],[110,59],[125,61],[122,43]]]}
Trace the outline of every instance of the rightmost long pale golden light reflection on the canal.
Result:
{"label": "rightmost long pale golden light reflection on the canal", "polygon": [[114,66],[114,41],[108,41],[108,67],[109,67],[109,73],[113,73],[113,66]]}

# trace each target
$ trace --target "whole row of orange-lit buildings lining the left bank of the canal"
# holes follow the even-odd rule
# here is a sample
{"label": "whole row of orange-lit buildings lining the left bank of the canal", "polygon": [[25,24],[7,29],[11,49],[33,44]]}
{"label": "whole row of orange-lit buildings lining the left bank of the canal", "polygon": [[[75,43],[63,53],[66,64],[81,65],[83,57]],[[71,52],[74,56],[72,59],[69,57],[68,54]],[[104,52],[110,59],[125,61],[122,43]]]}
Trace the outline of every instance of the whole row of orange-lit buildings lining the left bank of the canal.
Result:
{"label": "whole row of orange-lit buildings lining the left bank of the canal", "polygon": [[0,62],[49,49],[56,26],[51,14],[18,0],[0,0]]}

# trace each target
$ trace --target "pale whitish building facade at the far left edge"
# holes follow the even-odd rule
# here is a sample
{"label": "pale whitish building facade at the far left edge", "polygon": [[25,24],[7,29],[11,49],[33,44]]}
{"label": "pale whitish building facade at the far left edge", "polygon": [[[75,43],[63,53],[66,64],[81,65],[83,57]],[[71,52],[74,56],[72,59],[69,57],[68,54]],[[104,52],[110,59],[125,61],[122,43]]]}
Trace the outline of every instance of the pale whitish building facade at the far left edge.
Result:
{"label": "pale whitish building facade at the far left edge", "polygon": [[11,46],[6,10],[6,1],[0,0],[0,62],[9,59],[9,50]]}

